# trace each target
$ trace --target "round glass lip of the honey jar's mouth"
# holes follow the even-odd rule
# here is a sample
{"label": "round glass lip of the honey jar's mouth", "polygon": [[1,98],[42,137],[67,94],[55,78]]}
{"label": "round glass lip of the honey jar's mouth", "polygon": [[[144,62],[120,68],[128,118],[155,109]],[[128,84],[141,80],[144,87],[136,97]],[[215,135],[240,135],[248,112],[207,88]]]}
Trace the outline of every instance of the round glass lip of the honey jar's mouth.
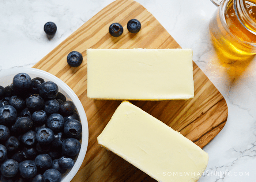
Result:
{"label": "round glass lip of the honey jar's mouth", "polygon": [[[256,35],[256,24],[251,19],[250,15],[249,15],[249,12],[247,11],[245,0],[234,0],[233,1],[233,8],[234,8],[234,11],[236,13],[238,21],[243,25],[243,27],[245,29],[247,29],[249,32]],[[245,22],[250,24],[255,29],[255,31],[246,27]]]}

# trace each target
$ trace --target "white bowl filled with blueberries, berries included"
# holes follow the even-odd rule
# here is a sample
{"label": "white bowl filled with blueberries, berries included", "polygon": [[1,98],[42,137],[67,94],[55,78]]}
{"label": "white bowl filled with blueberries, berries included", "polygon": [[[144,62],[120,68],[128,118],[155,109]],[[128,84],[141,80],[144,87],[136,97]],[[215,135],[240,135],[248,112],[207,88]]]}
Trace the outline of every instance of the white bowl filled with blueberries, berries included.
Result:
{"label": "white bowl filled with blueberries, berries included", "polygon": [[1,182],[69,182],[84,160],[88,123],[78,96],[35,68],[0,72]]}

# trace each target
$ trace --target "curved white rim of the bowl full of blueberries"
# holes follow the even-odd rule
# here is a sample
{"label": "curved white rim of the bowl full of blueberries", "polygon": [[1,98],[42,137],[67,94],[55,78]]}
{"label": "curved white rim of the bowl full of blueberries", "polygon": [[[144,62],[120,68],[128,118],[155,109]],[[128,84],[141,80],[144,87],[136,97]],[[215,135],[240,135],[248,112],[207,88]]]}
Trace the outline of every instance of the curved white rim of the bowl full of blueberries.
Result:
{"label": "curved white rim of the bowl full of blueberries", "polygon": [[[46,79],[52,80],[54,83],[56,83],[58,85],[58,87],[61,87],[65,92],[67,92],[68,96],[73,101],[74,100],[78,101],[78,102],[76,102],[75,106],[76,106],[76,109],[78,110],[81,124],[82,124],[81,149],[83,149],[83,150],[80,150],[80,152],[76,158],[75,165],[71,168],[71,170],[68,172],[68,174],[63,179],[61,179],[61,182],[70,182],[74,178],[74,176],[76,175],[78,170],[80,169],[80,166],[82,165],[82,163],[84,161],[84,157],[85,157],[87,147],[88,147],[89,128],[88,128],[88,121],[87,121],[87,117],[86,117],[86,113],[84,111],[83,105],[82,105],[80,99],[78,98],[78,96],[75,94],[75,92],[65,82],[63,82],[57,76],[50,74],[49,72],[39,70],[37,68],[23,68],[23,67],[22,68],[11,68],[8,70],[1,70],[0,77],[12,75],[12,74],[18,74],[18,73],[22,73],[22,72],[26,73],[28,75],[35,74],[38,76],[43,76]],[[83,120],[81,118],[83,118]]]}

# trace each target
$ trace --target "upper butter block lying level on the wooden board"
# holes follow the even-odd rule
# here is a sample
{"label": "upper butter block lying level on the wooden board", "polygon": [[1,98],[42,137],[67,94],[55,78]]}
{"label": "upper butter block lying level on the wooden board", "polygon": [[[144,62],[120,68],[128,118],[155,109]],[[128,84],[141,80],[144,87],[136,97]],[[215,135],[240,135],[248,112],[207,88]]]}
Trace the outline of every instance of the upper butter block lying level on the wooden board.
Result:
{"label": "upper butter block lying level on the wooden board", "polygon": [[194,96],[191,49],[87,49],[91,99],[170,100]]}

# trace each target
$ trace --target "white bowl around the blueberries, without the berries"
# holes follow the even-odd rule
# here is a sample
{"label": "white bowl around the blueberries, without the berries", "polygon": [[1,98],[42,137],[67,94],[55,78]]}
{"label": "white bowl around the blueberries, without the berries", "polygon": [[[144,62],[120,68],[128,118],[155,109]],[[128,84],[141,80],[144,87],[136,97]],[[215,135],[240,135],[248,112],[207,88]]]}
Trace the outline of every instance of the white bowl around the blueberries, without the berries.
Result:
{"label": "white bowl around the blueberries, without the berries", "polygon": [[72,100],[76,106],[76,110],[80,116],[80,120],[82,123],[82,143],[80,152],[76,158],[75,165],[72,169],[68,170],[66,173],[63,174],[63,178],[61,182],[70,182],[72,178],[74,178],[75,174],[79,170],[82,162],[84,160],[84,156],[86,154],[87,146],[88,146],[88,139],[89,139],[89,131],[88,131],[88,122],[86,118],[86,114],[84,112],[84,108],[82,103],[80,102],[78,96],[76,96],[75,92],[65,84],[61,79],[57,78],[56,76],[39,69],[35,68],[13,68],[10,70],[3,70],[0,71],[0,86],[8,86],[12,83],[12,79],[18,73],[27,73],[31,79],[35,77],[41,77],[45,81],[52,81],[59,86],[59,92],[64,94],[67,100]]}

